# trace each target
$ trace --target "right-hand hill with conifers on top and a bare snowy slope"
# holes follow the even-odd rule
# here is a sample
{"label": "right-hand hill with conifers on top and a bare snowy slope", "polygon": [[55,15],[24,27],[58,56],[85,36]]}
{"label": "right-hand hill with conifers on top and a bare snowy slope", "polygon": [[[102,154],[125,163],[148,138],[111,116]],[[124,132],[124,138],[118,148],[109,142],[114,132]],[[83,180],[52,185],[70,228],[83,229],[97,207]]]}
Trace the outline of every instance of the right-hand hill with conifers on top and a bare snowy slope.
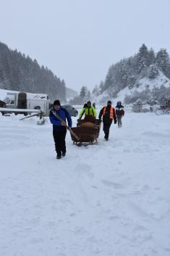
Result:
{"label": "right-hand hill with conifers on top and a bare snowy slope", "polygon": [[109,67],[106,79],[93,89],[95,102],[125,104],[164,102],[170,97],[170,60],[166,49],[157,54],[143,44],[138,53]]}

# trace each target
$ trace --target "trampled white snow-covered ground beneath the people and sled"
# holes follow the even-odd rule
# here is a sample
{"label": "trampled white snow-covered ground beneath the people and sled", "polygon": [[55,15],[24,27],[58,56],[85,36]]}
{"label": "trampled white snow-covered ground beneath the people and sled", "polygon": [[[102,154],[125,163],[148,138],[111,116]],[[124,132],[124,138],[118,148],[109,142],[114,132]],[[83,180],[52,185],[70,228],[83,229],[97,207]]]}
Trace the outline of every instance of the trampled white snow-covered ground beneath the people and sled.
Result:
{"label": "trampled white snow-covered ground beneath the people and sled", "polygon": [[169,256],[170,116],[128,112],[93,146],[67,133],[61,160],[36,118],[0,115],[0,255]]}

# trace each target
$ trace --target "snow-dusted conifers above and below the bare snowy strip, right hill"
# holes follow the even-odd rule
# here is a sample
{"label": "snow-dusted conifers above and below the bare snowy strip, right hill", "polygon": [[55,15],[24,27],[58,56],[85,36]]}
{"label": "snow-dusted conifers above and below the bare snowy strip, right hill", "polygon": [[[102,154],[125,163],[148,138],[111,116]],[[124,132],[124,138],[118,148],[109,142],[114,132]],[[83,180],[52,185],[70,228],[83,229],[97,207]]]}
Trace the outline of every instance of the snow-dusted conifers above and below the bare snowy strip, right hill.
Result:
{"label": "snow-dusted conifers above and below the bare snowy strip, right hill", "polygon": [[[109,67],[106,79],[95,88],[93,88],[92,94],[99,96],[103,92],[107,92],[111,97],[116,97],[119,91],[128,87],[137,88],[140,86],[140,79],[149,78],[153,80],[158,77],[159,71],[161,71],[166,78],[170,78],[170,59],[169,53],[166,49],[160,49],[157,53],[151,48],[148,49],[143,44],[137,54],[132,57],[121,59],[116,64]],[[168,82],[168,79],[166,80]],[[162,84],[161,88],[154,88],[153,91],[149,91],[148,88],[143,93],[135,93],[135,96],[127,96],[127,104],[132,103],[137,97],[143,97],[146,100],[163,100],[163,97],[169,94],[170,88],[166,88]],[[161,94],[159,96],[158,94]],[[163,96],[164,95],[164,96]],[[146,97],[148,96],[148,98]]]}

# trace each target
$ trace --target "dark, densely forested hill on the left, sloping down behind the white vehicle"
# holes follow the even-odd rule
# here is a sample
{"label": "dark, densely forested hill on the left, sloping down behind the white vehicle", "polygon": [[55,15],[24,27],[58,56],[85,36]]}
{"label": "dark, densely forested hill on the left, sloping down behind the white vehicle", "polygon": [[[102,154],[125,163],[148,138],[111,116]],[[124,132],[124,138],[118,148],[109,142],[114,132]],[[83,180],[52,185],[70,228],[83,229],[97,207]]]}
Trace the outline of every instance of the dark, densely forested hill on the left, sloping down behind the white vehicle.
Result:
{"label": "dark, densely forested hill on the left, sloping down behind the white vehicle", "polygon": [[17,50],[0,42],[0,88],[48,94],[51,99],[66,101],[66,85],[47,67],[38,65]]}

